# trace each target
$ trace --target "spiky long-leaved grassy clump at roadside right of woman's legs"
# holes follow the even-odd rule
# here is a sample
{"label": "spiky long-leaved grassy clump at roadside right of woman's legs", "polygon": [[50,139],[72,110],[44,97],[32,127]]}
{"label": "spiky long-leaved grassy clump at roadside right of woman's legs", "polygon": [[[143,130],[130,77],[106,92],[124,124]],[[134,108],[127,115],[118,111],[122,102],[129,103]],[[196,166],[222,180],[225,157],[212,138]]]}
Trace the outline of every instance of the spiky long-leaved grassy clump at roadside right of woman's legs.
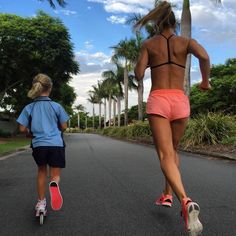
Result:
{"label": "spiky long-leaved grassy clump at roadside right of woman's legs", "polygon": [[226,143],[229,137],[236,137],[235,121],[235,117],[222,113],[199,114],[190,119],[182,144],[188,148]]}

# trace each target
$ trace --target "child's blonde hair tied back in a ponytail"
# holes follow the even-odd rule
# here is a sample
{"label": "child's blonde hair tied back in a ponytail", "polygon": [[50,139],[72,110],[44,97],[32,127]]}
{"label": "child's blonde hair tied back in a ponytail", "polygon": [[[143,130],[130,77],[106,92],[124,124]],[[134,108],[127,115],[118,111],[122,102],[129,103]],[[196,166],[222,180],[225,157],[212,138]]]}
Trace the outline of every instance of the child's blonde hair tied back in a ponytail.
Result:
{"label": "child's blonde hair tied back in a ponytail", "polygon": [[37,74],[33,78],[32,88],[28,92],[29,98],[37,98],[43,92],[49,92],[52,89],[52,80],[49,76],[45,74]]}

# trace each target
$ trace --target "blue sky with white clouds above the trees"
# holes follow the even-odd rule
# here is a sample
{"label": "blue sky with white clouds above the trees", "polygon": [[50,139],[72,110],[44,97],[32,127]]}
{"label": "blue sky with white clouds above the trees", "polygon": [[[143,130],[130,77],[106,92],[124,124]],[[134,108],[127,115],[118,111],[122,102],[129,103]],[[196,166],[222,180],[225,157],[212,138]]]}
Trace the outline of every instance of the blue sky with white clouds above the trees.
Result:
{"label": "blue sky with white clouds above the trees", "polygon": [[[182,0],[169,2],[176,5],[174,12],[180,18]],[[190,2],[192,37],[207,50],[211,64],[223,64],[228,58],[236,57],[236,0],[223,0],[222,5],[210,0]],[[127,17],[134,13],[146,14],[153,8],[154,0],[67,0],[67,3],[64,8],[56,4],[56,9],[52,9],[46,0],[0,0],[0,12],[32,17],[38,10],[43,10],[61,19],[71,36],[81,70],[70,82],[77,94],[75,105],[82,104],[91,113],[88,91],[102,80],[103,71],[114,69],[110,62],[111,47],[120,40],[134,37],[132,27],[125,24]],[[193,58],[191,83],[200,79],[198,61]],[[150,86],[150,71],[146,71],[144,101]],[[137,105],[137,99],[137,92],[130,92],[129,107]]]}

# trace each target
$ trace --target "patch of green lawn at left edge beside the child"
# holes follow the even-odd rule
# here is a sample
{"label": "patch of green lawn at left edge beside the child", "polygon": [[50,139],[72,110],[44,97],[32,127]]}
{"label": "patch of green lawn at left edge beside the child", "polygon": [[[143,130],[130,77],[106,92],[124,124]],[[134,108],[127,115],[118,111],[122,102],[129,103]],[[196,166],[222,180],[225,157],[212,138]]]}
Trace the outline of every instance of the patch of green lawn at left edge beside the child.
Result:
{"label": "patch of green lawn at left edge beside the child", "polygon": [[11,139],[4,140],[5,143],[0,143],[0,156],[8,154],[23,148],[30,144],[30,139]]}

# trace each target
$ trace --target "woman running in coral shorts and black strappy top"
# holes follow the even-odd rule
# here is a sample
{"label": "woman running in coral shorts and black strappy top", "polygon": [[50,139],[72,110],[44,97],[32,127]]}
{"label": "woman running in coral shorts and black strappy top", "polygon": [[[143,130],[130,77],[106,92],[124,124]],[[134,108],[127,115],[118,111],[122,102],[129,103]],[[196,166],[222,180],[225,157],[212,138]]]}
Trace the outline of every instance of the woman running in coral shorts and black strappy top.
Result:
{"label": "woman running in coral shorts and black strappy top", "polygon": [[192,53],[199,60],[202,74],[199,87],[202,90],[210,89],[209,56],[196,40],[175,35],[176,19],[168,2],[161,2],[139,20],[136,27],[150,21],[159,32],[143,43],[135,76],[137,80],[143,79],[146,68],[150,67],[152,86],[146,112],[166,179],[165,189],[156,204],[171,207],[173,190],[182,205],[186,230],[190,235],[199,235],[203,229],[198,218],[200,207],[185,192],[177,148],[190,115],[189,99],[184,93],[187,55]]}

